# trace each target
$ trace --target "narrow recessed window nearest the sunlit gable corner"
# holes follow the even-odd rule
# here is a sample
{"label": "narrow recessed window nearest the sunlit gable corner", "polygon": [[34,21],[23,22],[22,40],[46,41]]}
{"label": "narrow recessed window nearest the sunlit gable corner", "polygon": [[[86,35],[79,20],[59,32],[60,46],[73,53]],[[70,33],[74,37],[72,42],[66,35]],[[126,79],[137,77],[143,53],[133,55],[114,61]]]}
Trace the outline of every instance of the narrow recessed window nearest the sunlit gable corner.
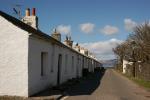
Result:
{"label": "narrow recessed window nearest the sunlit gable corner", "polygon": [[41,52],[41,76],[46,74],[46,67],[48,66],[48,53]]}

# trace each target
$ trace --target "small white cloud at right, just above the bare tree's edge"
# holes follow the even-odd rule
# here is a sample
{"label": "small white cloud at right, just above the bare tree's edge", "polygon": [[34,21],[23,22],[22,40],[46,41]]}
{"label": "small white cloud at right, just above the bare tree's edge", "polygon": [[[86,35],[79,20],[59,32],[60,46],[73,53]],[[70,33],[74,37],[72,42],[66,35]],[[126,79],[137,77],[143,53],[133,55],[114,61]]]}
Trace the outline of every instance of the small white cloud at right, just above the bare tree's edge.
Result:
{"label": "small white cloud at right, just above the bare tree's edge", "polygon": [[125,29],[129,32],[133,31],[133,29],[137,26],[137,23],[131,19],[124,19]]}

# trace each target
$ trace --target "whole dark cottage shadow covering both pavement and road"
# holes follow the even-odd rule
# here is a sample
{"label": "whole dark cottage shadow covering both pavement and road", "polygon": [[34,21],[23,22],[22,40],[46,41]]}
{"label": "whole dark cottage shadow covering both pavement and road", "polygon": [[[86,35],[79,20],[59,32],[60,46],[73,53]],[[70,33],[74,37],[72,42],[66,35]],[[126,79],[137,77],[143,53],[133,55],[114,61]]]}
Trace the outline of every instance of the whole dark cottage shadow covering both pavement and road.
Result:
{"label": "whole dark cottage shadow covering both pavement and road", "polygon": [[61,86],[44,90],[40,93],[31,96],[31,98],[50,99],[50,98],[57,98],[59,96],[61,97],[62,94],[70,96],[90,95],[99,87],[101,79],[104,74],[105,69],[98,70],[94,73],[88,74],[86,77],[83,77],[81,79],[77,80],[74,79],[69,82],[66,82],[65,84],[62,84]]}

